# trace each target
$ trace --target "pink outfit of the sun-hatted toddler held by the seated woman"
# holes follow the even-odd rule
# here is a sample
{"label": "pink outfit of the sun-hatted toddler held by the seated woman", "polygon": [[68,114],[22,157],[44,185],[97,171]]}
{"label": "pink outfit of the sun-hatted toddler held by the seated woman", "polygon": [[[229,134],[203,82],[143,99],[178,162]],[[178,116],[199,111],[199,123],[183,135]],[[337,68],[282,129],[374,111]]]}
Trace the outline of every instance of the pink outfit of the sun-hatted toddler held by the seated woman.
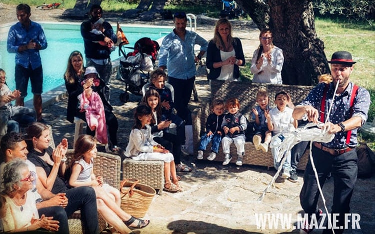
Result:
{"label": "pink outfit of the sun-hatted toddler held by the seated woman", "polygon": [[96,129],[96,139],[102,143],[108,143],[107,125],[105,122],[104,105],[98,93],[92,92],[89,98],[86,97],[87,90],[78,96],[81,111],[86,110],[87,125],[93,131]]}

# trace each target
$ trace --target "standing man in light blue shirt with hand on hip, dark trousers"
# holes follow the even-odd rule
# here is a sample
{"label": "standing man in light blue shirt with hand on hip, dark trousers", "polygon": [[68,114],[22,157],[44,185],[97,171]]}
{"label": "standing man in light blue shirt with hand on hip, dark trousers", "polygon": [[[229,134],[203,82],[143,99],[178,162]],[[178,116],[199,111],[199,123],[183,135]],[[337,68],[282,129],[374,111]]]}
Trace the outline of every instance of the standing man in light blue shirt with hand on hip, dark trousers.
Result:
{"label": "standing man in light blue shirt with hand on hip, dark trousers", "polygon": [[[159,68],[168,68],[168,82],[174,88],[174,103],[177,115],[185,120],[187,152],[192,154],[192,120],[188,109],[195,82],[195,63],[204,55],[208,42],[193,31],[186,30],[187,17],[177,12],[173,18],[175,28],[162,41],[159,52]],[[200,45],[200,52],[194,54],[194,46]]]}

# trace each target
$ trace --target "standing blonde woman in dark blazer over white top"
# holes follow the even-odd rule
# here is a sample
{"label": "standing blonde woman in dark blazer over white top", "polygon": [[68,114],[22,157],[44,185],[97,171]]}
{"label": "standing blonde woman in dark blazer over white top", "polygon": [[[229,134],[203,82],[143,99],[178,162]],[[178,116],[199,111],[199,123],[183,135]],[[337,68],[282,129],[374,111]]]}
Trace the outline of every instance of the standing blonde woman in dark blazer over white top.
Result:
{"label": "standing blonde woman in dark blazer over white top", "polygon": [[226,18],[216,22],[215,34],[208,44],[207,68],[210,80],[237,80],[239,67],[245,65],[242,43],[232,37],[232,26]]}

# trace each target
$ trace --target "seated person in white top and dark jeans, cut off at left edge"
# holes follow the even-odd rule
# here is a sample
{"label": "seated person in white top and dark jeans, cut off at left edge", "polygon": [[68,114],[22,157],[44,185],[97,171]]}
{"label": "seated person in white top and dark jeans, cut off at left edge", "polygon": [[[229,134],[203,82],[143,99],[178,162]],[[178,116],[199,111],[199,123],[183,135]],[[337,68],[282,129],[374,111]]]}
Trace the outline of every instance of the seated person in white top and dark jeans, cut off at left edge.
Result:
{"label": "seated person in white top and dark jeans, cut off at left edge", "polygon": [[0,68],[0,140],[7,133],[8,126],[14,127],[11,131],[15,131],[14,129],[19,129],[16,122],[28,126],[36,121],[36,112],[33,109],[11,104],[11,101],[21,96],[21,92],[12,92],[5,83],[5,77],[5,71]]}

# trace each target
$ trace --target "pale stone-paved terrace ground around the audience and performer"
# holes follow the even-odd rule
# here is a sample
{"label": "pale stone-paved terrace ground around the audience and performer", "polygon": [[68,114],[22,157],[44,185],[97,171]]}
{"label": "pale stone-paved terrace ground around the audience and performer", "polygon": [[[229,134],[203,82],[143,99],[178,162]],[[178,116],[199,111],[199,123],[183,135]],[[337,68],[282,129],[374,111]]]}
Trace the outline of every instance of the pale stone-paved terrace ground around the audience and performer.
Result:
{"label": "pale stone-paved terrace ground around the audience and performer", "polygon": [[[0,23],[15,22],[15,5],[0,3]],[[62,9],[32,10],[31,19],[35,21],[72,21],[61,19]],[[125,20],[118,18],[118,14],[107,14],[109,21],[121,23],[142,23],[139,20]],[[105,14],[104,14],[105,17]],[[204,38],[213,35],[215,19],[198,16],[198,30]],[[168,21],[147,22],[150,25],[172,25]],[[241,38],[247,62],[250,61],[253,50],[258,45],[258,30],[243,21],[233,21],[234,36]],[[63,64],[62,64],[63,65]],[[204,67],[197,77],[199,100],[207,100],[210,96],[209,85],[204,74]],[[115,75],[115,74],[114,74]],[[123,92],[123,83],[114,80],[112,86],[111,103],[119,121],[119,146],[124,149],[128,142],[130,128],[133,124],[133,110],[140,101],[139,96],[130,95],[130,101],[120,102],[118,96]],[[191,101],[191,110],[198,107],[200,102]],[[63,98],[56,104],[43,110],[43,118],[53,126],[54,138],[59,142],[63,137],[73,141],[74,125],[66,121],[67,99]],[[260,152],[259,152],[260,153]],[[164,192],[156,195],[145,218],[151,219],[150,225],[136,231],[141,234],[247,234],[247,233],[298,233],[293,228],[297,224],[298,214],[302,213],[299,203],[299,192],[303,183],[303,172],[297,183],[276,180],[268,190],[264,200],[257,202],[266,185],[271,180],[275,170],[264,167],[242,166],[234,164],[222,166],[218,162],[196,161],[193,156],[182,159],[183,162],[194,167],[191,173],[180,174],[184,191],[171,194]],[[360,230],[347,230],[346,234],[367,234],[375,229],[374,176],[368,179],[358,179],[351,201],[353,213],[361,215]],[[328,208],[332,204],[333,180],[326,182],[323,193],[327,199]],[[321,201],[320,201],[321,204]],[[287,222],[290,227],[257,228],[256,214],[290,214]],[[316,230],[315,233],[321,233]]]}

